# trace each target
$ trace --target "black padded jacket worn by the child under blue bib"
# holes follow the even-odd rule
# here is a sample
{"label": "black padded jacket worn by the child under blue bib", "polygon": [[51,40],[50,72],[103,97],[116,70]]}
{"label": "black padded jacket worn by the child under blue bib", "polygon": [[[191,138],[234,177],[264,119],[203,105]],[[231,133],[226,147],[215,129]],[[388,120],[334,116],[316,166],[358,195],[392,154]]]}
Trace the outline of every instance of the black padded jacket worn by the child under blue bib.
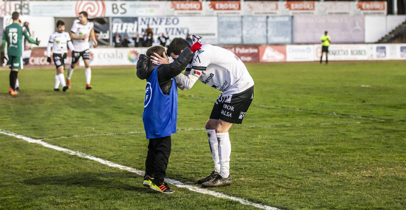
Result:
{"label": "black padded jacket worn by the child under blue bib", "polygon": [[[180,74],[192,61],[194,52],[190,48],[185,48],[179,57],[170,64],[162,64],[158,66],[158,83],[162,93],[169,95],[172,87],[172,78]],[[141,80],[148,78],[153,69],[157,66],[150,61],[151,58],[145,54],[141,54],[137,62],[137,76]]]}

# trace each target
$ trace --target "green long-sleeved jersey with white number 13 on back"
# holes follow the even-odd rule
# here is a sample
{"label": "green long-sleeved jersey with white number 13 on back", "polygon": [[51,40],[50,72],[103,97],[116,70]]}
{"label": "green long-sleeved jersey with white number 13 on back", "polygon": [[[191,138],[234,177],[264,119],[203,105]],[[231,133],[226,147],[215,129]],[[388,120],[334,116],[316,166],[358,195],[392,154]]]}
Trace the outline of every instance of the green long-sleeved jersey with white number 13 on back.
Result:
{"label": "green long-sleeved jersey with white number 13 on back", "polygon": [[[7,43],[7,54],[12,56],[21,56],[23,53],[23,35],[30,43],[37,43],[30,37],[28,30],[17,23],[10,24],[4,28],[3,43]],[[4,52],[4,45],[2,46]]]}

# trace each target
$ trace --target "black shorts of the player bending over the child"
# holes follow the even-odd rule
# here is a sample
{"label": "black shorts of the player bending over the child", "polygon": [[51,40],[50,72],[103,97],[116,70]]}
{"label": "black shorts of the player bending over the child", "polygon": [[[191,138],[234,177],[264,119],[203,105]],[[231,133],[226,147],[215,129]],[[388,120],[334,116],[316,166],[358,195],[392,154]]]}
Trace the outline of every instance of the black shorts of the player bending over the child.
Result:
{"label": "black shorts of the player bending over the child", "polygon": [[241,124],[253,98],[254,86],[242,93],[229,96],[220,94],[214,103],[210,119],[221,119],[229,123]]}

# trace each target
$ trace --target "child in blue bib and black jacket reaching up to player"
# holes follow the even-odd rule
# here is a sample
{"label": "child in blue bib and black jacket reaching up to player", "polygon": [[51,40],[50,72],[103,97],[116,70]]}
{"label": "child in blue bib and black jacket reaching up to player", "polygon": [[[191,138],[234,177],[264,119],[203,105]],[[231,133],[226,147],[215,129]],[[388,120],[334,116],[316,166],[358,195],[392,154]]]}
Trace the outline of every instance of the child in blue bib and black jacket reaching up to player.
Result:
{"label": "child in blue bib and black jacket reaching up to player", "polygon": [[182,49],[176,61],[164,65],[150,61],[151,55],[166,58],[164,47],[153,46],[148,48],[147,55],[141,54],[137,62],[138,78],[147,79],[143,122],[149,145],[143,185],[161,193],[174,192],[164,180],[171,155],[171,134],[176,133],[177,85],[174,77],[186,68],[200,46],[196,43]]}

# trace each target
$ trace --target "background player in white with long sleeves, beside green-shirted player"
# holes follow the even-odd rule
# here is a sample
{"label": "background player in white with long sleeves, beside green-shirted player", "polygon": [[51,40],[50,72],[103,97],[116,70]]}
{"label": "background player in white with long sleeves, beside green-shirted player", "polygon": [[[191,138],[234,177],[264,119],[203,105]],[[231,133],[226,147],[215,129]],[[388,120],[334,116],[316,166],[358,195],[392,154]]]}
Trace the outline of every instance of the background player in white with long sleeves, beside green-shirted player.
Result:
{"label": "background player in white with long sleeves, beside green-shirted player", "polygon": [[68,52],[67,45],[72,52],[75,50],[69,33],[65,32],[65,23],[62,20],[58,20],[58,22],[56,22],[56,31],[51,34],[47,47],[47,61],[51,63],[52,47],[52,58],[54,58],[54,63],[56,66],[54,91],[60,91],[58,88],[59,84],[62,84],[62,89],[64,92],[68,89],[65,84],[65,76],[63,75],[66,53]]}

